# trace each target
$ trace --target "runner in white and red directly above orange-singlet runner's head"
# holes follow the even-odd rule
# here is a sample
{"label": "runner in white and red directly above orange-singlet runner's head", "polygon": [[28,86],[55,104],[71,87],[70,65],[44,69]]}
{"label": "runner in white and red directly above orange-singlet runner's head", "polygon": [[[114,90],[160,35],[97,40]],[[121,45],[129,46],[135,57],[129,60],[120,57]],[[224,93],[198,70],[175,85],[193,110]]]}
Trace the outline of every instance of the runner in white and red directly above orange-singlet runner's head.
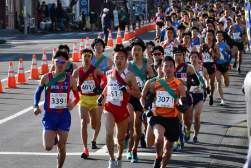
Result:
{"label": "runner in white and red directly above orange-singlet runner's head", "polygon": [[165,57],[166,56],[172,56],[173,55],[172,48],[175,45],[179,44],[177,39],[173,39],[173,35],[174,35],[174,28],[167,27],[166,28],[166,38],[167,38],[167,40],[162,42]]}

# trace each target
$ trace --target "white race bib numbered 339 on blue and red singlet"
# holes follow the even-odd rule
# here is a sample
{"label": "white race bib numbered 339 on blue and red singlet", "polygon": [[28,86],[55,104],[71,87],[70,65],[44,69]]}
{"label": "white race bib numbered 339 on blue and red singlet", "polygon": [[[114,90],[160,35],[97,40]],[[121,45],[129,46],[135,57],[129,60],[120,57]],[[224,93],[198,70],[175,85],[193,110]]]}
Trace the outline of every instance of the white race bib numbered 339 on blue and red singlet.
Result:
{"label": "white race bib numbered 339 on blue and red singlet", "polygon": [[67,93],[51,93],[50,94],[50,108],[63,109],[67,105]]}

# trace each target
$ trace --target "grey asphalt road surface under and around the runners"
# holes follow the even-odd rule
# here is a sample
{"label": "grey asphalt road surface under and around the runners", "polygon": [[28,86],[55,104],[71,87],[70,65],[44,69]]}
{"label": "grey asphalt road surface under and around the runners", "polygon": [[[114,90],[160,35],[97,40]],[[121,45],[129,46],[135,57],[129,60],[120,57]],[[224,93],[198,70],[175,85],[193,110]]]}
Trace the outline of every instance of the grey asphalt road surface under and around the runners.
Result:
{"label": "grey asphalt road surface under and around the runners", "polygon": [[[122,33],[123,35],[123,33]],[[0,45],[0,76],[3,87],[6,86],[9,61],[13,61],[15,74],[18,69],[19,58],[24,61],[25,71],[31,68],[32,55],[36,54],[38,67],[41,66],[43,51],[47,52],[48,63],[51,62],[53,47],[67,43],[72,50],[74,41],[78,47],[81,38],[89,36],[90,43],[98,36],[98,32],[57,33],[48,35],[8,37],[6,44]],[[116,32],[113,33],[115,43]],[[155,32],[148,32],[140,36],[143,40],[153,40]],[[128,45],[128,42],[123,42]],[[112,49],[105,50],[104,55],[112,57]],[[248,139],[246,133],[245,98],[241,92],[241,85],[245,74],[250,71],[250,53],[243,55],[242,73],[236,69],[230,70],[230,86],[223,86],[226,106],[219,106],[220,98],[215,91],[215,103],[212,107],[208,101],[204,103],[201,114],[201,130],[199,143],[191,140],[178,152],[174,152],[168,167],[242,167],[245,163]],[[77,65],[81,63],[78,62]],[[26,72],[26,78],[29,72]],[[33,114],[33,95],[39,81],[29,80],[28,85],[19,85],[18,89],[4,89],[0,94],[0,168],[44,168],[56,167],[56,146],[47,152],[42,145],[42,115]],[[216,84],[215,84],[216,86]],[[43,94],[42,94],[43,95]],[[41,102],[44,96],[41,98]],[[104,168],[108,166],[108,152],[105,147],[104,117],[97,140],[98,148],[89,148],[89,159],[83,160],[80,136],[80,119],[78,109],[72,112],[72,125],[67,141],[66,168]],[[192,132],[193,134],[193,128]],[[88,142],[91,141],[92,130],[88,128]],[[191,135],[192,135],[191,134]],[[102,149],[101,149],[102,148]],[[116,148],[115,148],[116,149]],[[125,153],[126,151],[124,151]],[[123,167],[146,168],[152,167],[155,150],[151,148],[138,149],[139,163],[131,163],[123,156]]]}

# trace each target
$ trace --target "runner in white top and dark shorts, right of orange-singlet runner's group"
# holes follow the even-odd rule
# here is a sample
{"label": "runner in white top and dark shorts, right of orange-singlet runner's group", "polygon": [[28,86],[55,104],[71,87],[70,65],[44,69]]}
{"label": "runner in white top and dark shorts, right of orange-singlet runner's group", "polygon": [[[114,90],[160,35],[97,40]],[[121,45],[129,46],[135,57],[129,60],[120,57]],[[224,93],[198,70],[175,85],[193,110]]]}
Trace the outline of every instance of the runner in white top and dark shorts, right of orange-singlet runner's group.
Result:
{"label": "runner in white top and dark shorts, right of orange-singlet runner's group", "polygon": [[[198,133],[200,130],[200,114],[203,108],[203,99],[206,98],[206,85],[209,85],[207,69],[200,65],[199,60],[199,53],[192,51],[189,55],[190,62],[193,65],[194,69],[196,70],[196,75],[200,80],[199,86],[191,86],[190,92],[192,93],[193,97],[193,109],[192,115],[194,111],[194,135],[193,135],[193,143],[197,143],[198,141]],[[206,82],[205,82],[206,81]],[[205,84],[206,83],[206,84]],[[204,89],[203,89],[204,88]],[[204,95],[203,95],[204,92]]]}

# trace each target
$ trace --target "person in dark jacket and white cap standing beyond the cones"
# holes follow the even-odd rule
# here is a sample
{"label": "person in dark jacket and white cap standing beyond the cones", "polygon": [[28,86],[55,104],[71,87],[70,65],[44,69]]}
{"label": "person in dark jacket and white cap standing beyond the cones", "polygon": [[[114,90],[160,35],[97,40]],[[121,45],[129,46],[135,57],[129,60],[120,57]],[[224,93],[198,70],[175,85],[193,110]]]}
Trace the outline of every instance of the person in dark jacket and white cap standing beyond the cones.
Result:
{"label": "person in dark jacket and white cap standing beyond the cones", "polygon": [[104,41],[105,45],[107,45],[109,30],[111,30],[111,22],[108,16],[109,9],[104,8],[102,15],[102,29],[104,31]]}

